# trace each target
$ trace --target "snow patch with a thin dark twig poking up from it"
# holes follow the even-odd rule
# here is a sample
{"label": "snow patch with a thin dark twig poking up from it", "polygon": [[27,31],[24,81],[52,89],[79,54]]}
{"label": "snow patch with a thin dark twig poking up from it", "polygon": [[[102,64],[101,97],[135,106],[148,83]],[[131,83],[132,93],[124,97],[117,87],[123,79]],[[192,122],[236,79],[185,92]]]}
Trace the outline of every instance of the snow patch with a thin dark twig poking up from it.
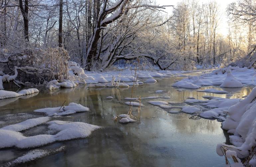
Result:
{"label": "snow patch with a thin dark twig poking up from it", "polygon": [[76,112],[89,111],[89,108],[82,106],[81,104],[69,103],[68,106],[54,107],[54,108],[42,108],[34,110],[34,112],[46,113],[48,116],[53,115],[69,115]]}

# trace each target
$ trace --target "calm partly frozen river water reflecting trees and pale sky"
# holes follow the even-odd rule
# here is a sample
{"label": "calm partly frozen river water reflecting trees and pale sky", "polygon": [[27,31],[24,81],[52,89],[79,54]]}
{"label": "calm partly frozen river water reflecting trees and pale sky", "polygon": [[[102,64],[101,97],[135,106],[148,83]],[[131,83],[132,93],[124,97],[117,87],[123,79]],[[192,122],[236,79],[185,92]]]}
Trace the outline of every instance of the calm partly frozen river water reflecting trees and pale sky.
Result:
{"label": "calm partly frozen river water reflecting trees and pale sky", "polygon": [[[182,102],[187,97],[203,99],[204,95],[241,98],[249,94],[252,89],[251,87],[223,88],[230,92],[228,94],[197,92],[188,89],[177,91],[178,88],[171,86],[175,82],[174,79],[180,78],[161,79],[155,84],[145,83],[136,86],[134,96],[160,95],[151,92],[161,89],[165,90],[171,99],[157,100]],[[202,89],[212,87],[206,86]],[[219,87],[213,88],[222,90]],[[192,120],[185,113],[169,114],[168,110],[150,105],[147,103],[150,100],[143,99],[142,103],[145,107],[142,107],[141,118],[138,122],[121,125],[112,121],[113,115],[128,112],[124,98],[130,97],[130,91],[131,88],[87,88],[86,85],[80,85],[52,92],[41,89],[39,94],[27,99],[6,99],[4,102],[0,100],[2,105],[0,127],[31,117],[42,116],[33,113],[35,109],[61,106],[64,101],[66,101],[65,105],[75,102],[89,107],[90,111],[52,119],[86,122],[104,128],[93,132],[86,139],[43,146],[42,149],[65,145],[66,149],[19,166],[223,166],[224,159],[215,153],[215,146],[219,142],[225,142],[226,138],[220,128],[221,123],[216,120]],[[108,100],[107,96],[113,96],[114,99]],[[136,115],[135,111],[134,114]],[[49,134],[45,125],[23,133],[26,136]],[[0,150],[0,164],[17,158],[27,151],[16,148]]]}

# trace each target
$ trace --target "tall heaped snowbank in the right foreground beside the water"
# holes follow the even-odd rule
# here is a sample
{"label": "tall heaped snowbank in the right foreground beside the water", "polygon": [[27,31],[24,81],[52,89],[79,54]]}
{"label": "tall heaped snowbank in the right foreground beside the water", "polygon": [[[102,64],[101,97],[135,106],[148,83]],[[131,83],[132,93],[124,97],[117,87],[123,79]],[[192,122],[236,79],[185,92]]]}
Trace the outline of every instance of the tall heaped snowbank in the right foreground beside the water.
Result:
{"label": "tall heaped snowbank in the right foreground beside the water", "polygon": [[[251,93],[227,110],[227,119],[222,122],[222,128],[228,130],[230,142],[233,145],[224,143],[218,144],[217,154],[223,156],[223,147],[233,151],[239,158],[249,156],[255,151],[256,146],[256,88]],[[254,149],[254,150],[253,150]],[[255,157],[251,158],[250,164],[256,165]]]}

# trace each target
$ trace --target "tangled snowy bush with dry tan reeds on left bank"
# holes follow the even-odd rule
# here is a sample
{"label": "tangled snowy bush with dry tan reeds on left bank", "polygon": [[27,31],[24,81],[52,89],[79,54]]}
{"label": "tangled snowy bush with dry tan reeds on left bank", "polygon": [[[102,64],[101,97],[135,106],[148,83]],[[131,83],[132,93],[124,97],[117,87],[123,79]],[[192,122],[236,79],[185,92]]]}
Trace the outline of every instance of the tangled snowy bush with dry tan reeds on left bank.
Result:
{"label": "tangled snowy bush with dry tan reeds on left bank", "polygon": [[4,50],[0,54],[0,89],[3,82],[40,86],[67,79],[69,56],[63,48],[26,48],[14,53]]}

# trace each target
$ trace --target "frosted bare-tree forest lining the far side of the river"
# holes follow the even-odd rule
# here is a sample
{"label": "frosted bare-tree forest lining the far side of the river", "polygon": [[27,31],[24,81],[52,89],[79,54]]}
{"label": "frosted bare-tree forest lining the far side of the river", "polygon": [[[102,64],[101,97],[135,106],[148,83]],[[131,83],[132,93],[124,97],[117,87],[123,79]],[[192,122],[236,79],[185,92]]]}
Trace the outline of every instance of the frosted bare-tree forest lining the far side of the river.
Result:
{"label": "frosted bare-tree forest lining the far side of the river", "polygon": [[[144,68],[191,70],[254,67],[255,0],[227,6],[229,34],[218,32],[215,1],[159,6],[150,0],[1,0],[0,76],[43,82],[67,72],[67,61],[88,71],[139,60]],[[167,10],[173,10],[168,16]],[[51,76],[51,77],[49,77]],[[2,79],[4,81],[4,79]]]}

